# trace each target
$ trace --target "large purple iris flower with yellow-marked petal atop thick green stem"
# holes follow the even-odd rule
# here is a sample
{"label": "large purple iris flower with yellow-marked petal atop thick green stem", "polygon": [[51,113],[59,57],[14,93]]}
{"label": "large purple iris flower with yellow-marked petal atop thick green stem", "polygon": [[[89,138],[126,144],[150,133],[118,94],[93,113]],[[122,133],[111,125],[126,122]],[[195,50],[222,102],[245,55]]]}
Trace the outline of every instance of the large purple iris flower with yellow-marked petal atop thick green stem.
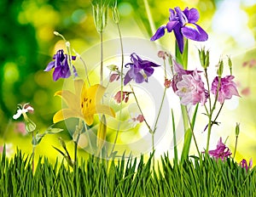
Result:
{"label": "large purple iris flower with yellow-marked petal atop thick green stem", "polygon": [[174,31],[174,35],[177,40],[179,51],[183,53],[184,48],[184,37],[194,41],[207,41],[208,35],[200,25],[195,23],[199,20],[199,13],[195,8],[185,8],[183,11],[176,7],[174,10],[169,9],[170,17],[167,25],[161,25],[160,28],[155,32],[154,36],[151,37],[151,41],[155,41],[160,37],[163,37],[166,33]]}

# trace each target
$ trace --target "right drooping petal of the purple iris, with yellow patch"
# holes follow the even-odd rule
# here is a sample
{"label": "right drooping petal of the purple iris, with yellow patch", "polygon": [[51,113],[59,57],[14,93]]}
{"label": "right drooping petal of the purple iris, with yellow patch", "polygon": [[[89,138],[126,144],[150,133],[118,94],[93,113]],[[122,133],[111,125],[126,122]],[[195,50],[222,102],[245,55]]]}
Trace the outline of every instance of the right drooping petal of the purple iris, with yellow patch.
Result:
{"label": "right drooping petal of the purple iris, with yellow patch", "polygon": [[201,26],[188,23],[181,28],[184,37],[194,41],[207,41],[208,35]]}

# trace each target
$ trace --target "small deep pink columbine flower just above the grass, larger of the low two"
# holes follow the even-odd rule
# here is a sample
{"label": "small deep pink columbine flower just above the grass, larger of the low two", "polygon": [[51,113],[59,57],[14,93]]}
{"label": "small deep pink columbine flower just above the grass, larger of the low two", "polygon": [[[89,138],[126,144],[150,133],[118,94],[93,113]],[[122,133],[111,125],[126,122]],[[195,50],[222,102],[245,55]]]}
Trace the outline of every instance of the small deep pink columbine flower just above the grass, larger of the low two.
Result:
{"label": "small deep pink columbine flower just above the grass, larger of the low two", "polygon": [[222,142],[222,138],[218,140],[217,149],[209,150],[209,155],[213,156],[215,159],[224,160],[231,154],[230,149]]}

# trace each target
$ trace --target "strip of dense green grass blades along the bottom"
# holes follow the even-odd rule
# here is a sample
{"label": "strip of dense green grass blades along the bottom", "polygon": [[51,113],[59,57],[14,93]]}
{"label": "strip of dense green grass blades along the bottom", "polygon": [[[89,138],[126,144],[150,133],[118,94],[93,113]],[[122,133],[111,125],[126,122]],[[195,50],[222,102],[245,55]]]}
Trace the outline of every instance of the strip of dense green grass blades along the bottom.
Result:
{"label": "strip of dense green grass blades along the bottom", "polygon": [[230,159],[173,166],[164,155],[154,169],[152,155],[115,162],[91,156],[74,170],[64,162],[40,158],[33,174],[29,156],[17,150],[9,160],[3,153],[0,196],[256,196],[255,167],[247,172]]}

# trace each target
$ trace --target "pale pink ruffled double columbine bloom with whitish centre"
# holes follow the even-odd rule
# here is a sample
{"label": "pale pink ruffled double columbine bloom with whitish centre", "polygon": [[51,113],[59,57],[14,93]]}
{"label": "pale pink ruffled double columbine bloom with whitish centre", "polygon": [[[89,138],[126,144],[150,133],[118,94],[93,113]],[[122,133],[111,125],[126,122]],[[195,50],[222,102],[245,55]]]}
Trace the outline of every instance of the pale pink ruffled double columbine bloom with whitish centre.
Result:
{"label": "pale pink ruffled double columbine bloom with whitish centre", "polygon": [[197,70],[192,75],[183,75],[182,81],[177,82],[177,96],[181,98],[181,104],[205,104],[207,102],[207,90]]}

